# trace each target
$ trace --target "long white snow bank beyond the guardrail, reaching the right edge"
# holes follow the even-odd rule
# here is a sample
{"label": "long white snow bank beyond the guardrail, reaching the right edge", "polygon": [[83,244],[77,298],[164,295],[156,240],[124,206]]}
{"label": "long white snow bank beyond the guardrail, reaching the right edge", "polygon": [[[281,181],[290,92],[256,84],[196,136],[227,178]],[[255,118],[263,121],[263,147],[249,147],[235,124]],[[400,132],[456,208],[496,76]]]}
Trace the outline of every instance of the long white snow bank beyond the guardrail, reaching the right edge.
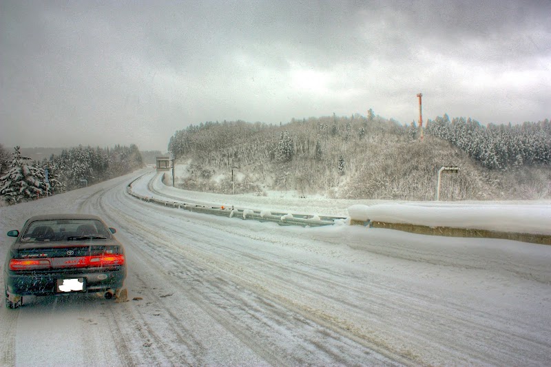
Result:
{"label": "long white snow bank beyond the guardrail, reaching the right edge", "polygon": [[[293,218],[292,213],[318,213],[329,216],[349,216],[351,220],[377,220],[380,222],[408,223],[428,227],[486,229],[488,231],[517,232],[551,235],[551,202],[381,202],[380,200],[327,200],[324,198],[264,198],[240,195],[201,193],[167,187],[156,172],[149,172],[132,185],[142,196],[155,196],[149,184],[168,198],[192,200],[202,205],[223,205],[233,209],[260,210],[260,216],[275,211],[289,213],[282,220]],[[161,198],[163,196],[160,196]],[[346,211],[348,209],[348,214]],[[232,212],[231,217],[238,212]],[[346,222],[346,221],[343,221]],[[341,223],[338,223],[341,224]]]}

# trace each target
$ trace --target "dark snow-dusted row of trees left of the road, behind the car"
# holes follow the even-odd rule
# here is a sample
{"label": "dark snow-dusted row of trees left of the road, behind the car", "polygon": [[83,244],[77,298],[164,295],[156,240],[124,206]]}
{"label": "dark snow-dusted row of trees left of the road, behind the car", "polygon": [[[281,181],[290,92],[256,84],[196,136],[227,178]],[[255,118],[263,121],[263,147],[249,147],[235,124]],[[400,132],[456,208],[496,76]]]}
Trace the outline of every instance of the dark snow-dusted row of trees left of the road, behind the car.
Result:
{"label": "dark snow-dusted row of trees left of the road, behind the car", "polygon": [[40,161],[23,156],[19,146],[10,153],[0,145],[0,196],[8,205],[17,204],[93,185],[141,167],[142,156],[134,144],[95,149],[79,145]]}

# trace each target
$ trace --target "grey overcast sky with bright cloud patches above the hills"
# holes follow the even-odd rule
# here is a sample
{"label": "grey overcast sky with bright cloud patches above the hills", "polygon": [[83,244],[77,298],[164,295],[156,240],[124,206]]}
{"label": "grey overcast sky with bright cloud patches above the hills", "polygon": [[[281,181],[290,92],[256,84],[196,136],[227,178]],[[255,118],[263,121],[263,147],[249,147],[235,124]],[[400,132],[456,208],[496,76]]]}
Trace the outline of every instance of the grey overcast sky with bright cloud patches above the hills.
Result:
{"label": "grey overcast sky with bright cloud patches above the hills", "polygon": [[205,121],[551,118],[551,1],[0,0],[0,143],[165,151]]}

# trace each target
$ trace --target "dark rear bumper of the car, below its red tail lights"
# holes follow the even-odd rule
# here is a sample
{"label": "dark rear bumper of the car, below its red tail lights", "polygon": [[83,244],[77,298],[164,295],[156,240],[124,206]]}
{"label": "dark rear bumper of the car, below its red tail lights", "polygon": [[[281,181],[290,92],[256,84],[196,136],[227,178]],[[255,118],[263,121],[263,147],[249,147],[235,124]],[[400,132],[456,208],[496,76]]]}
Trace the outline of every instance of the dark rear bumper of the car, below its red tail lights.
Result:
{"label": "dark rear bumper of the car, below its red tail lights", "polygon": [[94,271],[32,272],[4,274],[6,290],[11,295],[63,295],[57,290],[58,280],[83,279],[84,288],[76,293],[94,293],[107,289],[121,289],[126,278],[126,268],[94,269]]}

